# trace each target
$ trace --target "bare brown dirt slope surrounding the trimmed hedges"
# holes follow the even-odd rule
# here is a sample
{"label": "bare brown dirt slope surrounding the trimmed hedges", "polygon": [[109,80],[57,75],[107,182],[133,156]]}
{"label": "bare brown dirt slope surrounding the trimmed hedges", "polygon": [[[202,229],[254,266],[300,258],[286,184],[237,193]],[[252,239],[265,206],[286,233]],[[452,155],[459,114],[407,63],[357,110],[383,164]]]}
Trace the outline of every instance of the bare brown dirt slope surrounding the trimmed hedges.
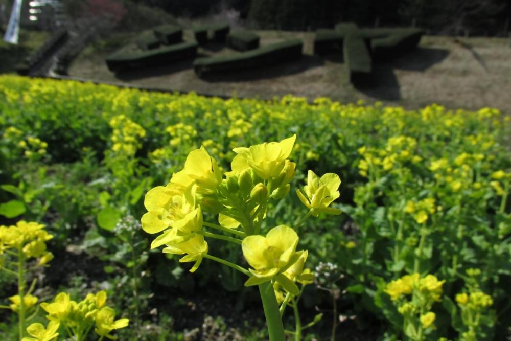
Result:
{"label": "bare brown dirt slope surrounding the trimmed hedges", "polygon": [[[105,57],[113,44],[89,47],[75,60],[69,75],[98,81],[179,90],[182,92],[268,99],[292,94],[313,100],[330,97],[341,102],[382,101],[407,108],[438,103],[449,108],[497,107],[511,113],[511,44],[505,38],[424,36],[419,48],[390,62],[377,62],[370,84],[355,88],[347,81],[342,52],[326,57],[312,54],[314,33],[259,31],[261,44],[289,38],[304,41],[300,60],[264,69],[200,79],[192,61],[114,75]],[[185,31],[185,38],[191,33]],[[124,35],[117,41],[129,41]],[[223,45],[199,48],[199,56],[235,53]]]}

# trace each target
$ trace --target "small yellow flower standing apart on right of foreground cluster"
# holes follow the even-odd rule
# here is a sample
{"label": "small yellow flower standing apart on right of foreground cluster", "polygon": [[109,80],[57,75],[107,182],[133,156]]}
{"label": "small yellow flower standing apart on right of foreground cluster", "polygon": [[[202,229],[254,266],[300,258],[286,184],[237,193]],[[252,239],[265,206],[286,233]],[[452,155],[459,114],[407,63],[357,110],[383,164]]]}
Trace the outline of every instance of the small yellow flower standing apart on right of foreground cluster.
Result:
{"label": "small yellow flower standing apart on right of foreground cluster", "polygon": [[319,178],[313,171],[309,170],[307,174],[307,185],[304,187],[304,193],[299,189],[296,194],[300,201],[311,210],[312,215],[318,216],[319,213],[341,214],[339,209],[328,207],[332,201],[339,197],[339,186],[341,179],[337,174],[327,173]]}

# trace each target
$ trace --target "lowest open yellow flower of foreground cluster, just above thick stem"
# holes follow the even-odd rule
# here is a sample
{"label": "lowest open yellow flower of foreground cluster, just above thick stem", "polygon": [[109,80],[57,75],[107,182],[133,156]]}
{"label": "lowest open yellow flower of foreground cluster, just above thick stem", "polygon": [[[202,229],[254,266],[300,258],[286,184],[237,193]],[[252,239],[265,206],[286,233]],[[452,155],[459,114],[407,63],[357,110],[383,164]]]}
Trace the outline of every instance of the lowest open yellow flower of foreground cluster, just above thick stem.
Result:
{"label": "lowest open yellow flower of foreground cluster, just above thick stem", "polygon": [[243,239],[243,256],[252,267],[253,275],[245,285],[257,285],[275,278],[288,292],[298,295],[298,287],[282,275],[303,256],[303,252],[295,252],[297,244],[298,235],[286,225],[276,226],[266,237],[257,235]]}

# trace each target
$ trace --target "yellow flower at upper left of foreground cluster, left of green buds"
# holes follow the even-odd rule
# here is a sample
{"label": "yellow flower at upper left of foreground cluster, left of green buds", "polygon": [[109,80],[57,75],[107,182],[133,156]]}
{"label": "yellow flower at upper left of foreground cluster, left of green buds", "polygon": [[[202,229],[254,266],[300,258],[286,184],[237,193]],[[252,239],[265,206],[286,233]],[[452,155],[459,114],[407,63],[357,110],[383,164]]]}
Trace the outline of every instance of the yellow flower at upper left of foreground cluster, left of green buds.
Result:
{"label": "yellow flower at upper left of foreground cluster, left of green buds", "polygon": [[207,153],[204,147],[192,150],[184,168],[172,175],[171,183],[188,187],[197,184],[197,192],[212,193],[222,181],[222,174],[216,160]]}

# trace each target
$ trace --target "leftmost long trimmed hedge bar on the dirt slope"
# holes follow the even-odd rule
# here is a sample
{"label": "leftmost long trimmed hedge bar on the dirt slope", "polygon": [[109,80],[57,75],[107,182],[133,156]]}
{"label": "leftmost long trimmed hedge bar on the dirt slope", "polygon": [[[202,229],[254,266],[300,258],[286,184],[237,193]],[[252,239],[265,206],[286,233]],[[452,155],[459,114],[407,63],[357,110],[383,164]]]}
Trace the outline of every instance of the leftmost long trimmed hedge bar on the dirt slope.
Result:
{"label": "leftmost long trimmed hedge bar on the dirt slope", "polygon": [[112,72],[137,67],[166,65],[170,62],[192,58],[197,55],[197,42],[189,41],[169,47],[148,51],[116,52],[106,58],[106,65]]}

